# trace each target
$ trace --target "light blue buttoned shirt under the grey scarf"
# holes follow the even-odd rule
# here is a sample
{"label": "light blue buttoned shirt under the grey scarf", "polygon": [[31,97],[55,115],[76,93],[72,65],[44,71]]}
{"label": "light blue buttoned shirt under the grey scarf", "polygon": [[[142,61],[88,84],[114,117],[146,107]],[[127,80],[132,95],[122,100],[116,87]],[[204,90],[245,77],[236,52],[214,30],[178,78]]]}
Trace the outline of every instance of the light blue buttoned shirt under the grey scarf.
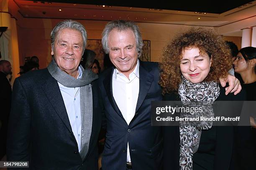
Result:
{"label": "light blue buttoned shirt under the grey scarf", "polygon": [[[78,77],[82,77],[82,70],[78,67]],[[78,150],[81,150],[81,111],[80,111],[80,87],[65,87],[58,82],[62,98],[67,110],[72,132],[77,141]],[[63,148],[65,149],[65,148]]]}

